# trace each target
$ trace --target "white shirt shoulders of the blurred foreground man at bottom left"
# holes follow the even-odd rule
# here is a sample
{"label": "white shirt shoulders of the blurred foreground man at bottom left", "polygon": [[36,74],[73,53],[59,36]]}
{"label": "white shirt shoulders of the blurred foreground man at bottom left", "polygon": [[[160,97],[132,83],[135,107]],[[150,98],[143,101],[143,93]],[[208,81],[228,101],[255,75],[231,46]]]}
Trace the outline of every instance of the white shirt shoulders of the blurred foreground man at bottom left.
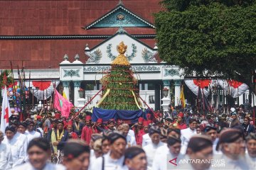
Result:
{"label": "white shirt shoulders of the blurred foreground man at bottom left", "polygon": [[[27,162],[26,164],[16,166],[13,170],[36,170],[36,169],[34,169],[33,166],[29,162]],[[46,163],[46,166],[42,170],[65,170],[65,166],[61,164]]]}

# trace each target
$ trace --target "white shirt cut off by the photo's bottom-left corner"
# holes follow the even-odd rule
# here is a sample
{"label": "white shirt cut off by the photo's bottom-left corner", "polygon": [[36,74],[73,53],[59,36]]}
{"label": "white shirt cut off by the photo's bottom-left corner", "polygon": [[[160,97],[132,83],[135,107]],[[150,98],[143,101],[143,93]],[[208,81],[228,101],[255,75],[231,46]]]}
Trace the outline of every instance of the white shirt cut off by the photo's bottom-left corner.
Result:
{"label": "white shirt cut off by the photo's bottom-left corner", "polygon": [[11,149],[5,143],[0,144],[0,170],[11,169]]}

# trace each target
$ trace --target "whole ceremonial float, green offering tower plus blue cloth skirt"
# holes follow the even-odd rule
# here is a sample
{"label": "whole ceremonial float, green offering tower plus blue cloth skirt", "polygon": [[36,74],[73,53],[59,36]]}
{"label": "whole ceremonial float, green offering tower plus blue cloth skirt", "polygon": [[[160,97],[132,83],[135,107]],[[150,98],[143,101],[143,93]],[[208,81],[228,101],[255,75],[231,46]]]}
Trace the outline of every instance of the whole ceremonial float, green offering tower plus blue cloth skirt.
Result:
{"label": "whole ceremonial float, green offering tower plus blue cloth skirt", "polygon": [[139,89],[136,88],[137,79],[131,69],[131,64],[124,56],[127,45],[120,42],[117,45],[119,55],[111,64],[109,72],[100,79],[103,86],[102,98],[92,109],[92,121],[102,118],[103,121],[130,120],[137,122],[139,117],[146,118],[139,100]]}

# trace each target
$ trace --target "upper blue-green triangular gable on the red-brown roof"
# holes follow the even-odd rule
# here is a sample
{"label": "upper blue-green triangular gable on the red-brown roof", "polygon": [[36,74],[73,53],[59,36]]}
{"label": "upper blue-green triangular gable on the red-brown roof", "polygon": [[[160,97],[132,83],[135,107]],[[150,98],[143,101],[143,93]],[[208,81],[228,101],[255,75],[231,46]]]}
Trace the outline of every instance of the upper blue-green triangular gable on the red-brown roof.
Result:
{"label": "upper blue-green triangular gable on the red-brown roof", "polygon": [[85,26],[85,29],[90,28],[110,28],[110,27],[146,27],[155,28],[153,24],[137,16],[132,11],[129,11],[122,4],[114,8],[109,13],[106,13],[97,21]]}

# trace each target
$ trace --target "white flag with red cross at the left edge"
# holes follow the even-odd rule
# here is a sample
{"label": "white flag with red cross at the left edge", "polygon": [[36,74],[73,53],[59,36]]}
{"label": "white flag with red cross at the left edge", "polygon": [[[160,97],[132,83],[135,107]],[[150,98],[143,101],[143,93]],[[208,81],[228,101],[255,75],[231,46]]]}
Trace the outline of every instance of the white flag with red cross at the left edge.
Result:
{"label": "white flag with red cross at the left edge", "polygon": [[3,102],[1,110],[1,131],[4,132],[6,126],[9,125],[9,118],[11,116],[11,109],[9,105],[9,99],[7,96],[6,86],[4,86]]}

